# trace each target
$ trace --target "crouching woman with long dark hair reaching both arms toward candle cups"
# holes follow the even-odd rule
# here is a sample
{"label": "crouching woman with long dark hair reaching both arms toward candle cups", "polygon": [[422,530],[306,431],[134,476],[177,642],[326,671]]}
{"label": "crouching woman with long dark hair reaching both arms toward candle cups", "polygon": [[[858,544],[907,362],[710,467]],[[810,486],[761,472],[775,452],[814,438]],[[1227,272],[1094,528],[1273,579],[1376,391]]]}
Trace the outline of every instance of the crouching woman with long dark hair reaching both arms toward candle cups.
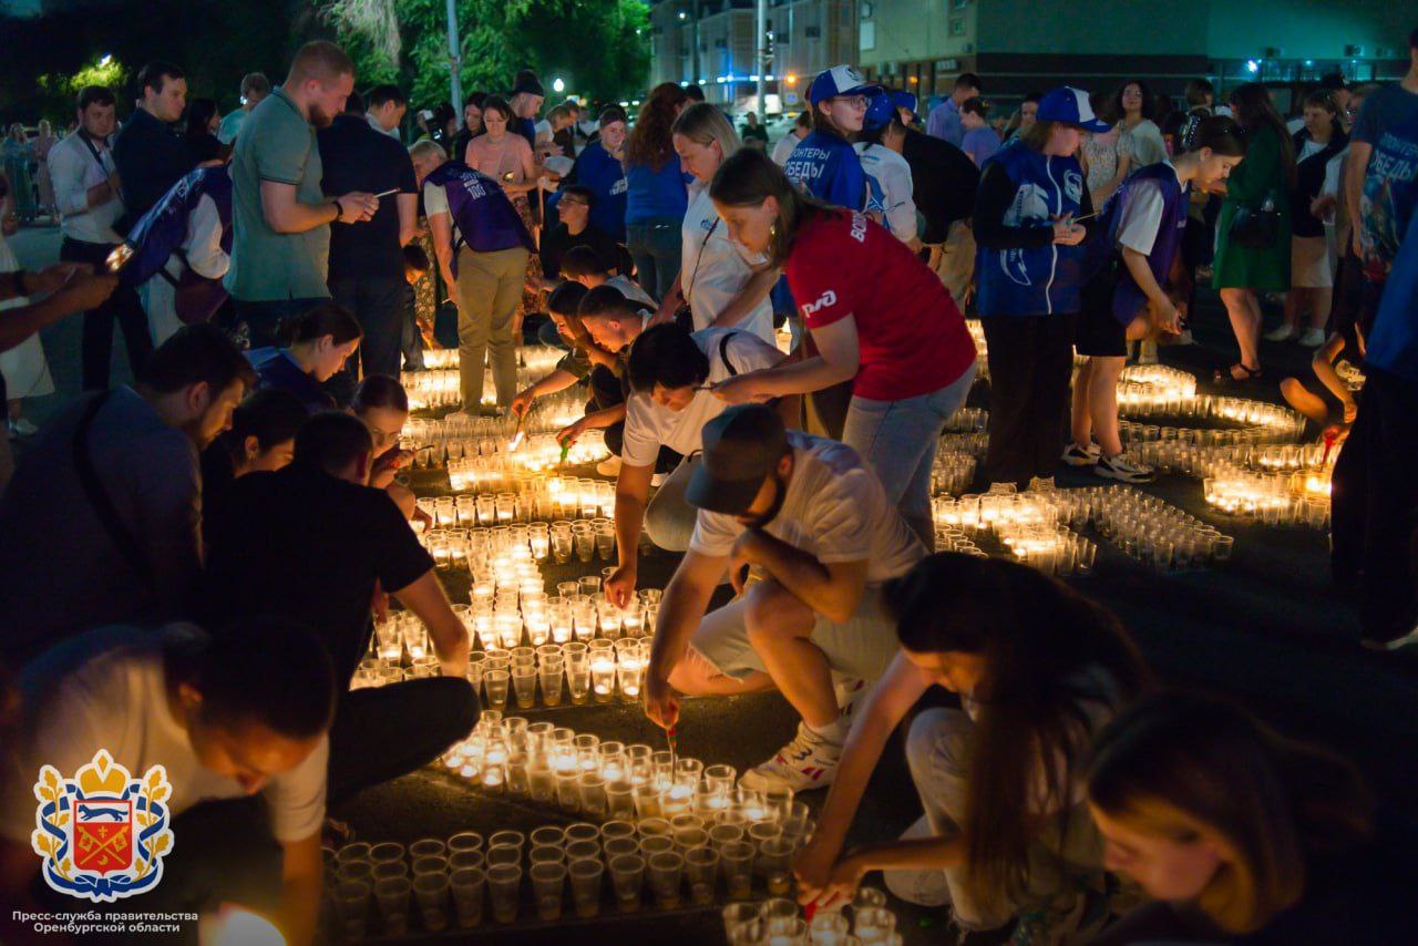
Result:
{"label": "crouching woman with long dark hair reaching both arms toward candle cups", "polygon": [[[900,651],[852,725],[797,858],[798,899],[849,899],[881,869],[902,899],[950,903],[966,932],[1017,919],[1022,942],[1058,942],[1085,932],[1069,918],[1106,919],[1079,909],[1106,889],[1083,757],[1092,733],[1149,682],[1117,618],[1037,569],[959,553],[888,583],[883,604]],[[886,740],[933,686],[963,708],[926,709],[906,735],[925,816],[899,841],[844,854]]]}

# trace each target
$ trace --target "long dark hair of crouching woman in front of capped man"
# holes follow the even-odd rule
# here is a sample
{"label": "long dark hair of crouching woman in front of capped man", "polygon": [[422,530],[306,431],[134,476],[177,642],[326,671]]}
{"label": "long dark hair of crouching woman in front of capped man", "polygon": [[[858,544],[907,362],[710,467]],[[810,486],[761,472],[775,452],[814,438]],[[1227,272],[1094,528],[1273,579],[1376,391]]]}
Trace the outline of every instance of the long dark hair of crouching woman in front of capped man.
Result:
{"label": "long dark hair of crouching woman in front of capped man", "polygon": [[[976,895],[1015,895],[1034,838],[1025,813],[1056,811],[1062,828],[1082,779],[1079,702],[1127,703],[1150,688],[1147,669],[1110,611],[1014,562],[937,553],[891,581],[885,601],[908,651],[984,657],[960,828]],[[1090,685],[1095,669],[1116,689]]]}

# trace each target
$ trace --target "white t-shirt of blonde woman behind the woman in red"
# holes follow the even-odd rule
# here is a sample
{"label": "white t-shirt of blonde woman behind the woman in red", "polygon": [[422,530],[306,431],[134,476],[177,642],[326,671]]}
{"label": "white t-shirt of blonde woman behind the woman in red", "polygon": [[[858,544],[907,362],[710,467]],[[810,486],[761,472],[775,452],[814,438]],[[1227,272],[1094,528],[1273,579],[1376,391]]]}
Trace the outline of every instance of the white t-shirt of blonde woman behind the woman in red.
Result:
{"label": "white t-shirt of blonde woman behind the woman in red", "polygon": [[[699,187],[681,227],[679,288],[689,299],[695,330],[706,329],[753,278],[753,269],[729,241],[729,228],[713,208],[709,189]],[[732,326],[773,343],[773,304],[763,296],[749,315]]]}

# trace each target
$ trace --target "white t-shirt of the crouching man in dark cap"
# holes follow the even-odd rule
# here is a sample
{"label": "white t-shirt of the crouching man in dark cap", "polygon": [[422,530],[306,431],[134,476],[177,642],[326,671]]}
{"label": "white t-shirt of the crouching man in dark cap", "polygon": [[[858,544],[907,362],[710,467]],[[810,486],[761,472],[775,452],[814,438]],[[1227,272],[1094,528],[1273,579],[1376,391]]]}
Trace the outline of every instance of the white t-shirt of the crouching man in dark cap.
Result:
{"label": "white t-shirt of the crouching man in dark cap", "polygon": [[[764,532],[822,564],[865,559],[868,584],[905,574],[926,557],[926,549],[886,499],[881,479],[855,450],[795,430],[788,431],[788,492]],[[733,516],[700,509],[689,549],[723,557],[740,535],[743,526]]]}

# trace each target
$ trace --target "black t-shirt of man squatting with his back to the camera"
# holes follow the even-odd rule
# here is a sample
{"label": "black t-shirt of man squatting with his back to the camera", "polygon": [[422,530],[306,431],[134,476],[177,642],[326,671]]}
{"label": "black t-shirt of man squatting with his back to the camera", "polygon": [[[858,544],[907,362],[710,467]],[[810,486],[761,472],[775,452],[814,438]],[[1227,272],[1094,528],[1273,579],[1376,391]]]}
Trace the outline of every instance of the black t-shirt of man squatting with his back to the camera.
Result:
{"label": "black t-shirt of man squatting with his back to the camera", "polygon": [[197,607],[214,625],[254,614],[311,625],[342,685],[369,647],[374,583],[394,593],[434,567],[387,492],[320,469],[247,474],[207,516]]}

